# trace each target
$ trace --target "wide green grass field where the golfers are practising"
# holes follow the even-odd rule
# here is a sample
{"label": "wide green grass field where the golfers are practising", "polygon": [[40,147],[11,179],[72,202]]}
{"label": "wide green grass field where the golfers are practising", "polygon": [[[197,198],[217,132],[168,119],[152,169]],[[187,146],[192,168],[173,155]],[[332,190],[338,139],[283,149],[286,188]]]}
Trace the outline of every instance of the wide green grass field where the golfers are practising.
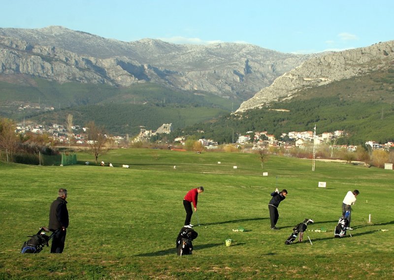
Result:
{"label": "wide green grass field where the golfers are practising", "polygon": [[[81,165],[65,167],[0,163],[0,279],[394,277],[393,171],[316,162],[312,172],[310,160],[275,156],[262,170],[254,154],[157,149],[119,149],[99,158],[114,168],[82,165],[94,162],[85,153],[78,160]],[[319,181],[327,188],[318,188]],[[199,185],[205,191],[198,197],[194,254],[180,257],[182,199]],[[270,229],[267,208],[275,185],[289,191],[278,209],[279,231]],[[68,190],[70,214],[64,253],[45,247],[20,254],[27,235],[47,226],[60,187]],[[335,239],[342,200],[356,188],[352,237]],[[315,220],[307,231],[313,245],[307,237],[285,245],[304,218]],[[232,231],[238,227],[245,232]]]}

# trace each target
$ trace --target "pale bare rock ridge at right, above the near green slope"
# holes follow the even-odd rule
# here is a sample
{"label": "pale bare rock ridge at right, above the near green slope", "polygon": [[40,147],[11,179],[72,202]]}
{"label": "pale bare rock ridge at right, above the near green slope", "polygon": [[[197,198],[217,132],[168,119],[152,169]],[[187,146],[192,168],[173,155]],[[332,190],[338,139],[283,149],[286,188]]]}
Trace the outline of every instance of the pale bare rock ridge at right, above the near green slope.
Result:
{"label": "pale bare rock ridge at right, above the near green slope", "polygon": [[387,70],[394,64],[394,41],[379,42],[369,47],[322,54],[278,77],[253,98],[243,102],[238,112],[259,108],[272,101],[289,100],[312,87],[334,81]]}

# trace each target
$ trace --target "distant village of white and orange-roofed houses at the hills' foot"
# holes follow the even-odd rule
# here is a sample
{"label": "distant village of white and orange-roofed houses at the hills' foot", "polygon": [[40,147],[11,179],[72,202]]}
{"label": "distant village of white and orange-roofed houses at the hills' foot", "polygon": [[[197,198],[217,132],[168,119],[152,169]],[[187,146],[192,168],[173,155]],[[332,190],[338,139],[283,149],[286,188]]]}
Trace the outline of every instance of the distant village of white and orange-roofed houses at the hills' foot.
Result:
{"label": "distant village of white and orange-roofed houses at the hills' foot", "polygon": [[[72,142],[73,144],[77,145],[86,145],[86,127],[80,126],[73,126],[72,130],[75,131],[73,133]],[[49,126],[39,125],[39,124],[25,124],[25,123],[18,123],[16,127],[17,133],[26,133],[32,132],[36,134],[47,134],[51,138],[53,138],[54,142],[62,145],[68,144],[70,139],[66,127],[60,124],[52,124]],[[112,139],[113,142],[119,146],[127,145],[128,143],[133,142],[147,142],[150,140],[152,136],[158,134],[169,134],[171,132],[171,123],[163,124],[157,130],[147,130],[144,128],[140,129],[140,133],[133,139],[129,139],[129,136],[107,136],[108,138]],[[313,135],[312,131],[303,131],[303,132],[288,132],[283,133],[281,135],[282,139],[284,140],[277,140],[275,139],[274,135],[268,134],[266,131],[263,132],[253,132],[248,131],[245,132],[243,135],[238,135],[237,140],[234,144],[237,147],[248,146],[251,147],[253,150],[263,149],[266,147],[284,147],[285,149],[291,147],[298,147],[300,149],[305,149],[310,147],[311,145],[319,145],[322,143],[328,143],[337,148],[346,148],[349,151],[355,151],[356,146],[353,145],[335,145],[336,139],[343,137],[344,132],[341,130],[337,130],[334,132],[325,132],[321,135]],[[180,143],[185,145],[186,143],[185,136],[179,136],[174,139],[175,143]],[[199,139],[199,142],[206,148],[206,149],[216,149],[219,147],[218,142],[210,139]],[[371,149],[390,149],[394,147],[393,142],[387,142],[384,144],[378,143],[373,140],[369,140],[365,142],[366,145],[369,145]]]}

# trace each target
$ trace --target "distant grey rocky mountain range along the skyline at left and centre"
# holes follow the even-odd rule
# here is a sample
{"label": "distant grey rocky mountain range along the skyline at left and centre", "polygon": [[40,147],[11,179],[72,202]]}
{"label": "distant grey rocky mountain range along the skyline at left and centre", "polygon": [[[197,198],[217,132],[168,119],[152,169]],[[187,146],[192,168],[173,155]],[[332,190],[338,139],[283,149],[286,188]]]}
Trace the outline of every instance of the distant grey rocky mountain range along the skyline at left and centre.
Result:
{"label": "distant grey rocky mountain range along the skyline at left and centre", "polygon": [[250,44],[123,42],[60,26],[0,28],[0,80],[7,81],[25,74],[59,83],[117,87],[155,82],[244,101],[312,57],[316,55],[285,54]]}

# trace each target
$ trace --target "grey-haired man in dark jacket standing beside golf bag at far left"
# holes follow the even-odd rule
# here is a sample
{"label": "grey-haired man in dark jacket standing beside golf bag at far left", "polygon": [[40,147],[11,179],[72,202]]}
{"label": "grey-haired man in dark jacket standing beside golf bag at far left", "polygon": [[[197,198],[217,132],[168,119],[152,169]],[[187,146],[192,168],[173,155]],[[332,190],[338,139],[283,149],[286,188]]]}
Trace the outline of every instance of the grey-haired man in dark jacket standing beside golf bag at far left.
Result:
{"label": "grey-haired man in dark jacket standing beside golf bag at far left", "polygon": [[49,230],[55,232],[52,238],[51,253],[62,253],[68,227],[67,190],[59,189],[59,197],[52,202],[49,210]]}

